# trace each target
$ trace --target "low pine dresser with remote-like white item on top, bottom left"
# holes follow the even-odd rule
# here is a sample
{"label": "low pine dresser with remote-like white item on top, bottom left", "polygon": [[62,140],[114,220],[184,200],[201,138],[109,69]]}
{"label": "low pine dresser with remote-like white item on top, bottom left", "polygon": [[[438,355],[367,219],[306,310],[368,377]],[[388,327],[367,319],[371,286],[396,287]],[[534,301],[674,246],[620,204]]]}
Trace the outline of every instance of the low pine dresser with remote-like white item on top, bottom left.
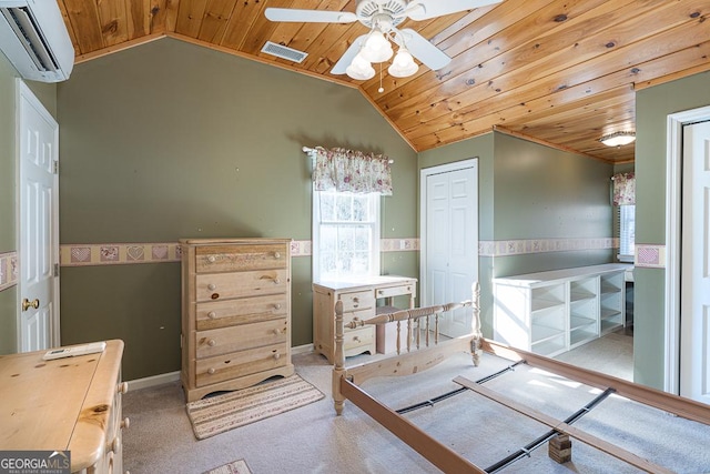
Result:
{"label": "low pine dresser with remote-like white item on top, bottom left", "polygon": [[44,353],[0,356],[0,451],[70,451],[73,473],[123,472],[123,341],[97,354]]}

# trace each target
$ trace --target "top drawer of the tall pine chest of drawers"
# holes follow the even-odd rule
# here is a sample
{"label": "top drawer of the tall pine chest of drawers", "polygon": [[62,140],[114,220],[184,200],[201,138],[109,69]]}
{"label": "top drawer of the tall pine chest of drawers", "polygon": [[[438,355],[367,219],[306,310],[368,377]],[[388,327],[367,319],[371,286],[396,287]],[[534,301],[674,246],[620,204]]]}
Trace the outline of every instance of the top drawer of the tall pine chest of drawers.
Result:
{"label": "top drawer of the tall pine chest of drawers", "polygon": [[287,256],[284,244],[199,246],[195,249],[195,270],[205,273],[285,269]]}

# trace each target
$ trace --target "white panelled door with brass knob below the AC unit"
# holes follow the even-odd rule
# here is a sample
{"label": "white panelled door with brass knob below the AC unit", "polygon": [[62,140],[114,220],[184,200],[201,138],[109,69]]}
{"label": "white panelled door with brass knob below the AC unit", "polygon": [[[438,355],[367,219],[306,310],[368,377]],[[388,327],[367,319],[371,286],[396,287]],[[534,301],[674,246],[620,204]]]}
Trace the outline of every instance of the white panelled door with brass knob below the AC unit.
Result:
{"label": "white panelled door with brass knob below the AC unit", "polygon": [[18,80],[20,352],[59,345],[59,125]]}

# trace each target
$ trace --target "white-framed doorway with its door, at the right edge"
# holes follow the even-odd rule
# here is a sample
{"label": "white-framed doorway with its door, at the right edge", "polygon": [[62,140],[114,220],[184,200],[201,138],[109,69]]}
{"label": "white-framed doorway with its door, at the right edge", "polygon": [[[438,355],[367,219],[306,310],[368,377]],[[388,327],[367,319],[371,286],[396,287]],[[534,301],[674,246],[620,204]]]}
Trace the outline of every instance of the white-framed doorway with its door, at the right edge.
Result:
{"label": "white-framed doorway with its door, at the right edge", "polygon": [[668,117],[665,390],[710,404],[710,108]]}

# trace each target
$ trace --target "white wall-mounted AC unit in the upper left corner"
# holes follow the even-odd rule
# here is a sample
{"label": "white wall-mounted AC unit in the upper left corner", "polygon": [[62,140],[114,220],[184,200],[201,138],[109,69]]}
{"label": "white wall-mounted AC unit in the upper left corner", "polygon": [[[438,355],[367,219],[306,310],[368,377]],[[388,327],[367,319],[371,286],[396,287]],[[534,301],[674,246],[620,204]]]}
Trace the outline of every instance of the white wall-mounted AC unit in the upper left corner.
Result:
{"label": "white wall-mounted AC unit in the upper left corner", "polygon": [[0,50],[20,75],[33,81],[65,81],[74,67],[57,0],[0,0]]}

